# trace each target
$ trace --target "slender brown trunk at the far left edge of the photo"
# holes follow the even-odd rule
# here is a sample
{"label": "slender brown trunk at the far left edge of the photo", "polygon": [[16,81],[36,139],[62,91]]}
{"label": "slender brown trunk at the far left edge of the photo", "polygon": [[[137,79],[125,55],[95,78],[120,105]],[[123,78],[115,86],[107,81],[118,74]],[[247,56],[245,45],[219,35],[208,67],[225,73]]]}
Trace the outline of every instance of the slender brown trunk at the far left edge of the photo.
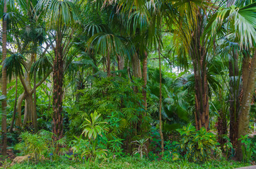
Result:
{"label": "slender brown trunk at the far left edge of the photo", "polygon": [[[6,0],[4,0],[4,13],[7,12],[7,6],[6,6]],[[7,21],[5,18],[3,18],[3,32],[2,32],[2,61],[6,59],[6,51],[7,51],[7,46],[6,46],[6,41],[7,41]],[[6,68],[2,68],[2,94],[6,96],[7,91],[6,91]],[[6,146],[7,146],[7,137],[6,137],[6,132],[7,132],[7,127],[6,127],[6,99],[2,101],[2,119],[1,119],[1,134],[2,134],[2,140],[1,140],[1,154],[2,156],[6,156]]]}

